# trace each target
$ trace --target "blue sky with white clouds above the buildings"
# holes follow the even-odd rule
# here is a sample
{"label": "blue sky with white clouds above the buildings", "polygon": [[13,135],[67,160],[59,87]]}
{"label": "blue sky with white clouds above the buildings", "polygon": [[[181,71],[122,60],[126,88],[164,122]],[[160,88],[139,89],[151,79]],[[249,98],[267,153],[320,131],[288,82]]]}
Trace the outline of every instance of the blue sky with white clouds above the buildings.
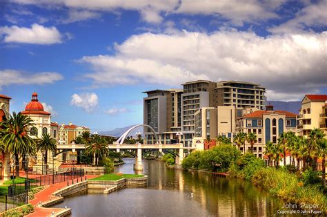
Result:
{"label": "blue sky with white clouds above the buildings", "polygon": [[143,91],[196,79],[327,93],[327,1],[1,0],[0,94],[92,131],[143,122]]}

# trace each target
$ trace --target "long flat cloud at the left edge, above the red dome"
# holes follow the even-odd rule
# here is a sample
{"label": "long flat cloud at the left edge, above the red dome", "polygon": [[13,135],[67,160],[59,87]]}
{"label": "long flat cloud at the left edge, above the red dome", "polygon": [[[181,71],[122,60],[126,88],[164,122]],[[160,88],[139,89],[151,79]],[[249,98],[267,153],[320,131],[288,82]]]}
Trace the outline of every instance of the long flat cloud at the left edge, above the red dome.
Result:
{"label": "long flat cloud at the left edge, above the red dome", "polygon": [[19,70],[5,69],[0,70],[0,89],[1,86],[10,84],[52,84],[63,79],[59,73],[25,73]]}

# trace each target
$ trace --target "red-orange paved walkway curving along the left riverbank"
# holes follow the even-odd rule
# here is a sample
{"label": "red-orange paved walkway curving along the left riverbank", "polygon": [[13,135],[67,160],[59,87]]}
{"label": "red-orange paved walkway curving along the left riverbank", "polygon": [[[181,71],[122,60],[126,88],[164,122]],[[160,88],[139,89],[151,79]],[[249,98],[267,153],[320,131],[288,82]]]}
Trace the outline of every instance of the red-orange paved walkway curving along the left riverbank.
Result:
{"label": "red-orange paved walkway curving along the left riverbank", "polygon": [[[86,178],[95,178],[97,176],[95,175],[87,175]],[[85,176],[83,177],[83,180],[85,179]],[[79,178],[80,182],[81,178]],[[74,183],[77,182],[77,178],[75,178]],[[69,185],[72,185],[72,180],[69,180]],[[30,200],[30,204],[34,205],[34,212],[32,214],[29,214],[28,216],[51,216],[52,211],[54,213],[58,211],[62,211],[63,209],[60,208],[46,208],[46,207],[38,207],[37,205],[41,202],[46,202],[51,199],[52,194],[67,186],[67,181],[66,182],[59,182],[55,183],[54,185],[49,185],[46,187],[46,189],[43,189],[43,191],[38,192],[37,194],[34,195],[34,199]]]}

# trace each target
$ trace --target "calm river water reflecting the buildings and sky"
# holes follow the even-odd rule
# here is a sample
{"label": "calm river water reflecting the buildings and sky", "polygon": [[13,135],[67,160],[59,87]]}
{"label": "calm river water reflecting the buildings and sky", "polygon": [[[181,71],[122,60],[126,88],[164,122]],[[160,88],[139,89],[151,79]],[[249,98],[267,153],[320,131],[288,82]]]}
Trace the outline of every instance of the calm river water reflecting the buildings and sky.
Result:
{"label": "calm river water reflecting the buildings and sky", "polygon": [[[134,160],[124,161],[116,171],[135,173]],[[144,160],[143,167],[147,187],[111,194],[85,191],[54,207],[70,207],[72,216],[272,216],[283,205],[242,180],[169,169],[156,160]]]}

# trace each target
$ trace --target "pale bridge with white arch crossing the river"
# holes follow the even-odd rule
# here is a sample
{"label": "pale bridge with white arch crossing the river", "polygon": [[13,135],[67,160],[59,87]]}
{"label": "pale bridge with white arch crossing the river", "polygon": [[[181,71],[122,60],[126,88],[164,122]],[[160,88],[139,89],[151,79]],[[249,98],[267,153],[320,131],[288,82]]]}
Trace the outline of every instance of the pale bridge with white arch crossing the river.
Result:
{"label": "pale bridge with white arch crossing the river", "polygon": [[[124,144],[123,142],[126,140],[126,137],[128,136],[128,133],[130,133],[133,129],[143,126],[148,127],[154,133],[155,135],[155,144]],[[59,153],[64,152],[63,150],[81,150],[85,149],[84,144],[58,144],[57,149],[59,150]],[[128,150],[135,150],[135,164],[134,169],[135,170],[143,170],[143,164],[142,164],[142,151],[150,150],[150,151],[159,151],[159,153],[171,153],[172,155],[175,155],[175,164],[177,167],[181,167],[181,162],[184,159],[184,150],[192,151],[197,149],[196,147],[184,147],[182,143],[177,144],[161,144],[161,142],[158,140],[157,135],[155,133],[155,130],[152,129],[151,126],[147,124],[138,124],[136,126],[132,126],[130,129],[128,129],[121,137],[115,142],[115,144],[108,144],[108,149],[115,150],[117,152],[122,151],[128,151]]]}

